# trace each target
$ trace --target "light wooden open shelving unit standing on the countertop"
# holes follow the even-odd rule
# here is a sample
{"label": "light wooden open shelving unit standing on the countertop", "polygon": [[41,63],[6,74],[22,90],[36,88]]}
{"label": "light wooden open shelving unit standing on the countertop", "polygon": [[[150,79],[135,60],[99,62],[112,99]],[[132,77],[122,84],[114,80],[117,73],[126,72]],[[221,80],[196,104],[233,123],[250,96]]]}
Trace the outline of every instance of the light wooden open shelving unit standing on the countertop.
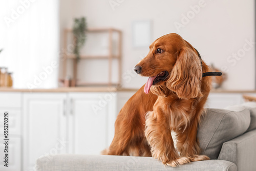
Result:
{"label": "light wooden open shelving unit standing on the countertop", "polygon": [[[108,59],[109,61],[109,81],[108,82],[102,82],[102,83],[93,83],[93,82],[78,82],[77,81],[77,59],[75,55],[68,55],[67,52],[67,46],[68,46],[68,34],[72,33],[72,29],[65,29],[64,30],[64,56],[63,56],[63,76],[65,77],[67,75],[67,60],[72,59],[73,60],[73,78],[71,81],[71,86],[118,86],[121,84],[121,54],[122,54],[122,32],[120,30],[114,29],[114,28],[89,28],[87,29],[88,33],[97,33],[97,32],[105,32],[109,34],[109,54],[107,55],[80,55],[80,60],[83,59]],[[113,54],[113,33],[116,32],[118,34],[118,53],[117,55]],[[75,37],[73,36],[73,42],[75,40]],[[118,81],[117,83],[112,82],[112,63],[113,59],[118,60]]]}

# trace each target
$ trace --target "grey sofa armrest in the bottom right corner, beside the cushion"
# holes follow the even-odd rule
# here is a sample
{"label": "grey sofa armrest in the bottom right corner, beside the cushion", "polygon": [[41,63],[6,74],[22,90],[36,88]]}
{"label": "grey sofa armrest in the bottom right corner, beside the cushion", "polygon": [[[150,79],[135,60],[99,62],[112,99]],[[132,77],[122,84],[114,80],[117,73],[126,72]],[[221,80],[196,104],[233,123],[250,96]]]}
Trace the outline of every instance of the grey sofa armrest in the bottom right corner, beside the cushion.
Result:
{"label": "grey sofa armrest in the bottom right corner, beside the cushion", "polygon": [[235,163],[238,170],[254,170],[256,168],[256,130],[223,143],[218,159]]}

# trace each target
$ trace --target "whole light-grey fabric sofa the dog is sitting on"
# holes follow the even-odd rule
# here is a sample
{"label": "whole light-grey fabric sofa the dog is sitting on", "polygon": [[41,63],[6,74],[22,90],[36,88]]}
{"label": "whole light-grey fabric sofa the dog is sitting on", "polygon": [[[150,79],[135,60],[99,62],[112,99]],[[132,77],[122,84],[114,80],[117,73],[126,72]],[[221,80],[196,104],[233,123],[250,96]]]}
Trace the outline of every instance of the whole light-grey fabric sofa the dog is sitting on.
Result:
{"label": "whole light-grey fabric sofa the dog is sitting on", "polygon": [[167,167],[152,157],[62,154],[38,158],[36,170],[256,170],[256,103],[206,113],[198,138],[211,160]]}

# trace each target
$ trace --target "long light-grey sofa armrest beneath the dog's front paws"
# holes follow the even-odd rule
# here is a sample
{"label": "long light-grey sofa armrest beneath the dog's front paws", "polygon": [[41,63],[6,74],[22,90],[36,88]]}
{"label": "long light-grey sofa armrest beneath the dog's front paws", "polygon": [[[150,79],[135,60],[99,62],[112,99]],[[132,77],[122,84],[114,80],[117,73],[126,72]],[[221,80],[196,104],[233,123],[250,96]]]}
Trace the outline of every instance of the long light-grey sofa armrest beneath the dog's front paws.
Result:
{"label": "long light-grey sofa armrest beneath the dog's front paws", "polygon": [[91,156],[91,155],[56,155],[44,156],[36,160],[36,170],[228,170],[235,171],[234,163],[223,160],[192,162],[179,167],[164,166],[152,157],[130,156]]}

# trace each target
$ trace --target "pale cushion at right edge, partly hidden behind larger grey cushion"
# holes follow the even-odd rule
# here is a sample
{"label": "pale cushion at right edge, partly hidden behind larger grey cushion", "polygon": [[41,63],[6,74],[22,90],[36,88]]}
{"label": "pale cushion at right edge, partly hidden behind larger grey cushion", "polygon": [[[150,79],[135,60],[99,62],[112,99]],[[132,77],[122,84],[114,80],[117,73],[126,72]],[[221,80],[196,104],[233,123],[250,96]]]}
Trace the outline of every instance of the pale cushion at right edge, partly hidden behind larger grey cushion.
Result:
{"label": "pale cushion at right edge, partly hidden behind larger grey cushion", "polygon": [[230,111],[238,111],[241,108],[250,110],[251,122],[247,132],[256,129],[256,102],[245,102],[239,105],[228,106],[226,109]]}

